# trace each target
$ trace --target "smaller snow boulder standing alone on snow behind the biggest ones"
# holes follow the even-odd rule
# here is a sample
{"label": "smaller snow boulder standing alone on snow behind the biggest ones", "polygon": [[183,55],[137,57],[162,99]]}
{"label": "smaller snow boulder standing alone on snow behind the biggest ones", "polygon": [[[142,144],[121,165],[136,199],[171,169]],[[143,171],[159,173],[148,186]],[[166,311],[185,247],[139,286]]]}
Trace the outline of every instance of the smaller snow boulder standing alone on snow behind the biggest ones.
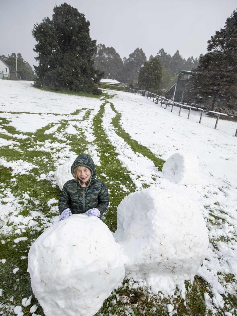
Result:
{"label": "smaller snow boulder standing alone on snow behind the biggest ones", "polygon": [[176,153],[164,163],[165,178],[181,185],[196,185],[200,182],[198,159],[194,154]]}

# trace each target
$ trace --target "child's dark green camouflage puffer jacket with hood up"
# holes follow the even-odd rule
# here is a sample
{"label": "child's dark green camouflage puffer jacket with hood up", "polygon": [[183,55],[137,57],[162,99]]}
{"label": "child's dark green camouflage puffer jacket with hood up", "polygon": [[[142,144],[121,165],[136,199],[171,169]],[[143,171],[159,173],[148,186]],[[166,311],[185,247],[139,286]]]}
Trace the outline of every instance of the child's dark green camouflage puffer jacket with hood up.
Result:
{"label": "child's dark green camouflage puffer jacket with hood up", "polygon": [[60,214],[70,208],[72,214],[85,213],[85,211],[97,208],[103,214],[109,205],[108,189],[104,182],[96,179],[94,161],[89,155],[79,155],[71,166],[71,173],[76,166],[86,166],[91,170],[92,176],[87,187],[82,187],[75,179],[67,181],[58,201]]}

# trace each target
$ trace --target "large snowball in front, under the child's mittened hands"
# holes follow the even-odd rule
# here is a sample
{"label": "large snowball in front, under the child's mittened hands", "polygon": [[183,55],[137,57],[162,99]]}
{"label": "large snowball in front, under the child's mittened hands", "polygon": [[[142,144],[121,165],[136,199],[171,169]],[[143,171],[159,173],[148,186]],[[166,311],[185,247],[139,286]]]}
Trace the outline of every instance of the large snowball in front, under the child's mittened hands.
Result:
{"label": "large snowball in front, under the child's mittened hands", "polygon": [[119,247],[97,217],[75,214],[33,243],[28,270],[46,316],[92,316],[124,278]]}

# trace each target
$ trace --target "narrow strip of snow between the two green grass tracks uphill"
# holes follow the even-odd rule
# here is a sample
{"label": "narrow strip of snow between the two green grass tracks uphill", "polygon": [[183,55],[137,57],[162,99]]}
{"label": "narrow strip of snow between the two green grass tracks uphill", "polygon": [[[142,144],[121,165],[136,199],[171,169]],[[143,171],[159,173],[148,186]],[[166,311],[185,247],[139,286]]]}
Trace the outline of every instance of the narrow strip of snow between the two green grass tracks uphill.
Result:
{"label": "narrow strip of snow between the two green grass tracks uphill", "polygon": [[137,190],[143,189],[144,186],[155,185],[156,179],[159,178],[159,169],[155,167],[153,161],[142,154],[134,153],[131,147],[124,139],[117,135],[115,128],[111,124],[112,118],[116,113],[111,109],[110,103],[105,105],[105,113],[102,118],[102,127],[104,128],[109,141],[116,148],[119,154],[117,159],[122,165],[131,172],[130,178],[136,185]]}

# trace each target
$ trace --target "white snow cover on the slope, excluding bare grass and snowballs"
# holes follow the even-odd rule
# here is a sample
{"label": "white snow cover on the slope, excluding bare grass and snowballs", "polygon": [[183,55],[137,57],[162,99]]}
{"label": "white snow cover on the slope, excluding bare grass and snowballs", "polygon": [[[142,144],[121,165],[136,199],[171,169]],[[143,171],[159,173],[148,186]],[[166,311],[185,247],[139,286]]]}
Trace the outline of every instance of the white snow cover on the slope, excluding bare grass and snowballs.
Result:
{"label": "white snow cover on the slope, excluding bare grass and snowballs", "polygon": [[[7,119],[9,125],[20,132],[16,135],[9,134],[2,124],[0,134],[8,135],[13,139],[6,140],[0,136],[0,146],[21,152],[17,140],[25,138],[27,142],[27,138],[31,137],[24,133],[34,133],[42,127],[54,124],[45,132],[46,135],[53,134],[58,139],[64,139],[65,134],[75,135],[79,131],[82,132],[88,143],[88,153],[93,156],[96,164],[100,165],[101,152],[94,144],[93,130],[96,126],[93,126],[93,118],[98,113],[103,98],[45,92],[33,88],[31,82],[7,80],[0,80],[0,90],[0,117]],[[204,295],[207,306],[214,312],[215,308],[223,308],[223,297],[228,293],[236,294],[236,283],[226,282],[224,279],[220,282],[219,275],[232,274],[237,278],[237,137],[234,137],[237,123],[219,120],[217,130],[214,130],[216,119],[204,116],[202,124],[198,124],[200,116],[198,112],[191,111],[190,119],[187,120],[188,111],[185,109],[182,109],[179,117],[178,108],[174,107],[171,113],[170,106],[166,110],[160,104],[156,105],[142,96],[120,91],[110,91],[110,94],[116,94],[108,101],[121,113],[122,128],[132,139],[149,148],[157,157],[166,161],[177,152],[194,154],[198,157],[201,179],[199,184],[179,185],[169,181],[155,167],[153,161],[140,153],[134,153],[129,144],[117,135],[111,123],[115,112],[110,103],[106,103],[102,127],[119,154],[117,158],[127,168],[136,189],[140,190],[143,184],[147,184],[161,190],[175,190],[180,195],[191,197],[201,209],[209,229],[210,244],[198,275],[210,283],[213,293],[212,299],[208,293]],[[72,115],[76,110],[80,112]],[[90,112],[84,118],[88,110]],[[65,130],[61,128],[62,119],[68,121]],[[38,142],[36,147],[37,150],[51,152],[55,157],[59,157],[54,167],[63,164],[70,154],[75,154],[72,150],[76,150],[73,144],[48,140]],[[12,181],[15,181],[16,174],[27,174],[32,168],[38,167],[24,161],[23,157],[18,161],[0,157],[0,164],[12,170]],[[41,174],[40,179],[52,180],[52,185],[55,185],[51,172]],[[129,188],[124,189],[129,192]],[[4,196],[2,201],[0,200],[2,208],[0,223],[3,233],[11,233],[13,225],[14,228],[18,228],[19,234],[28,225],[37,227],[36,220],[40,216],[46,227],[51,225],[45,216],[40,215],[40,212],[31,212],[26,218],[18,216],[19,210],[30,198],[26,192],[21,200],[17,200],[14,191],[9,189],[3,189],[1,194]],[[37,205],[37,201],[35,203]],[[51,207],[55,201],[49,200],[48,203]],[[52,210],[56,208],[56,206],[51,207]],[[9,216],[11,216],[10,221]],[[9,222],[13,225],[9,226]],[[4,260],[4,258],[0,259]],[[230,309],[226,309],[225,312],[229,313],[228,316],[232,313],[234,315]]]}

